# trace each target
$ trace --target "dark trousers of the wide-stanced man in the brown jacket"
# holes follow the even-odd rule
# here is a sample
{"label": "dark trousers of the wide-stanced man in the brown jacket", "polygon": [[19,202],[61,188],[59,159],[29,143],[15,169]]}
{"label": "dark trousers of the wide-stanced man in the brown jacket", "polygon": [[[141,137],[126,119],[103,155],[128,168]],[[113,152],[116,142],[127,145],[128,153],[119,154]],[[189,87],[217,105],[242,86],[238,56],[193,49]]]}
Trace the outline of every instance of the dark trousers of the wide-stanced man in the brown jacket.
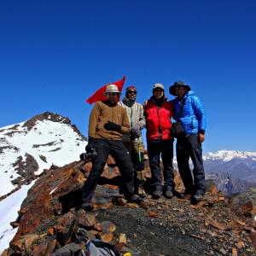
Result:
{"label": "dark trousers of the wide-stanced man in the brown jacket", "polygon": [[119,172],[123,175],[125,183],[125,196],[127,198],[134,194],[134,173],[130,154],[122,141],[110,141],[96,139],[95,148],[96,158],[92,161],[92,169],[87,181],[84,183],[83,201],[90,203],[92,195],[96,189],[99,177],[102,175],[103,168],[111,154],[119,167]]}

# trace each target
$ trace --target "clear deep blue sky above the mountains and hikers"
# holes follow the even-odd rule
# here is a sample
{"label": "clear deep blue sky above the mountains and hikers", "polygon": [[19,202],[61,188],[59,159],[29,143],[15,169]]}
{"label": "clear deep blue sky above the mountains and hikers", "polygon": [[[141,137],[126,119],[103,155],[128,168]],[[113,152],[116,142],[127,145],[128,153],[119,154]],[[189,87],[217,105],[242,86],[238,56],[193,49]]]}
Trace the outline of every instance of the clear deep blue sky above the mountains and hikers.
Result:
{"label": "clear deep blue sky above the mountains and hikers", "polygon": [[102,84],[125,75],[143,102],[181,79],[207,109],[205,152],[256,151],[255,14],[253,0],[1,1],[0,126],[51,111],[87,135]]}

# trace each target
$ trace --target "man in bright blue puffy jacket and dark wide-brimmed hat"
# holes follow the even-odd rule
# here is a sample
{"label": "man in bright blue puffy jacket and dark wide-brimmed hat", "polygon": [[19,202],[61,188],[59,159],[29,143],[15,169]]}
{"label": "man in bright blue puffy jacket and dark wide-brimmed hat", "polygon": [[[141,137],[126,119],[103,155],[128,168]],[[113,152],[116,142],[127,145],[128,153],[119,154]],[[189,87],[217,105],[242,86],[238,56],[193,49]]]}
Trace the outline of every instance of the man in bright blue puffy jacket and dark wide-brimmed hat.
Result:
{"label": "man in bright blue puffy jacket and dark wide-brimmed hat", "polygon": [[[183,125],[183,135],[177,137],[177,167],[185,187],[185,194],[192,195],[193,201],[201,201],[206,192],[205,172],[202,160],[201,143],[205,140],[207,116],[200,99],[188,84],[177,81],[169,88],[174,107],[173,118]],[[194,170],[189,168],[189,157]]]}

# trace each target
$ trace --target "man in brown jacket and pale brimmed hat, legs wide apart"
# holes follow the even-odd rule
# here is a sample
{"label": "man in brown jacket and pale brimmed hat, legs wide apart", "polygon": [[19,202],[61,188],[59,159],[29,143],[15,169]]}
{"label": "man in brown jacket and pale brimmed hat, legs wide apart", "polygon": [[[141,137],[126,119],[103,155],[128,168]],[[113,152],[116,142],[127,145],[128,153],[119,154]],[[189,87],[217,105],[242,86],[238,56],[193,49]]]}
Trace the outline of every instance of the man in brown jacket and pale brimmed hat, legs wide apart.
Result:
{"label": "man in brown jacket and pale brimmed hat, legs wide apart", "polygon": [[90,203],[98,179],[111,154],[119,171],[124,176],[125,197],[128,201],[139,202],[141,198],[134,194],[134,173],[130,154],[125,148],[122,136],[130,132],[130,124],[125,108],[120,107],[120,92],[115,84],[107,86],[106,102],[96,102],[90,113],[89,141],[86,151],[93,153],[92,169],[83,189],[85,211],[93,210]]}

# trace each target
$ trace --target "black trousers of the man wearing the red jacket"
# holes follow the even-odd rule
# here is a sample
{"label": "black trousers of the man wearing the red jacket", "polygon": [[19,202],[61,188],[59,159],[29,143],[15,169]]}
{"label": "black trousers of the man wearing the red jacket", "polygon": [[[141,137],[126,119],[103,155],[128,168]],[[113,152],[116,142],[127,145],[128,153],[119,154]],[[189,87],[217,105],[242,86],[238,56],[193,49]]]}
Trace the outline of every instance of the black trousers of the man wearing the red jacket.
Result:
{"label": "black trousers of the man wearing the red jacket", "polygon": [[173,180],[173,141],[172,140],[152,140],[148,141],[148,159],[152,174],[152,183],[155,190],[162,190],[160,175],[160,155],[164,166],[164,189],[173,190],[175,187]]}

